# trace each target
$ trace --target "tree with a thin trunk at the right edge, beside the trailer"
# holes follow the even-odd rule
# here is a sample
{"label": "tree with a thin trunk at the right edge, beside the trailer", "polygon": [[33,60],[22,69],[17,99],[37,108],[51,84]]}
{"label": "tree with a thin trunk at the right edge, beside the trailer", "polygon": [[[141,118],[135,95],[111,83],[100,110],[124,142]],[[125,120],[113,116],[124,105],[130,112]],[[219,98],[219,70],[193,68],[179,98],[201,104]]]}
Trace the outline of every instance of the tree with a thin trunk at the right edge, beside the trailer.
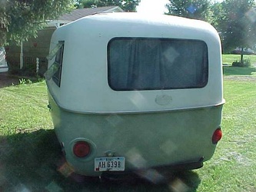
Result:
{"label": "tree with a thin trunk at the right edge, beside the trailer", "polygon": [[218,17],[219,34],[224,51],[241,48],[243,63],[244,48],[256,44],[256,6],[254,0],[225,0],[221,2],[221,16]]}

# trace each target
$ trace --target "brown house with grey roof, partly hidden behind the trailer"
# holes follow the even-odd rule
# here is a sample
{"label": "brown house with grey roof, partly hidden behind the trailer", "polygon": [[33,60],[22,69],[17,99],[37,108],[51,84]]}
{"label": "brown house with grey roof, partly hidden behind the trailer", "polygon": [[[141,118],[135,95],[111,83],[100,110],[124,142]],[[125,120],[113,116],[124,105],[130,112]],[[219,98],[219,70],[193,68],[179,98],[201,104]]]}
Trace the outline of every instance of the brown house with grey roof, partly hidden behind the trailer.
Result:
{"label": "brown house with grey roof, partly hidden behind the trailer", "polygon": [[15,73],[22,69],[27,75],[35,74],[38,58],[38,74],[44,74],[48,65],[46,57],[49,53],[50,41],[55,29],[79,18],[102,12],[124,11],[118,6],[77,8],[70,13],[60,16],[57,20],[49,20],[48,27],[38,31],[37,38],[30,38],[28,41],[22,42],[21,46],[10,43],[10,45],[5,48],[10,71]]}

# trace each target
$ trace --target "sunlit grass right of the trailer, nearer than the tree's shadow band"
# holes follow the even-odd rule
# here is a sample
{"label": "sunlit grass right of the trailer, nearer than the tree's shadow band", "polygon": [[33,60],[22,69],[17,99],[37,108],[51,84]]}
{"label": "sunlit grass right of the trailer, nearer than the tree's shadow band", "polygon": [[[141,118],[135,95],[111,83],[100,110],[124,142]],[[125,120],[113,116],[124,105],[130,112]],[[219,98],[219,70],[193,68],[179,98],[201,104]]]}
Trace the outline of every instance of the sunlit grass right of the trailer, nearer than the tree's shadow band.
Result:
{"label": "sunlit grass right of the trailer, nearer than the tree's shadow band", "polygon": [[256,190],[256,81],[224,81],[224,137],[204,168],[198,191]]}

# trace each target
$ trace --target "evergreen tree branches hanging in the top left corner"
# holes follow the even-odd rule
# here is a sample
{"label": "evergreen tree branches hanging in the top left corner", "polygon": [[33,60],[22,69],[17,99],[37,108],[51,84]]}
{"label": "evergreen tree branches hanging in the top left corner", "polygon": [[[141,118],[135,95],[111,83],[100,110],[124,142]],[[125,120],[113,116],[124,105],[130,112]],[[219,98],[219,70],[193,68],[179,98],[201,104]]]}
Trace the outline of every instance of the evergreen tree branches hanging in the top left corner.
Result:
{"label": "evergreen tree branches hanging in the top left corner", "polygon": [[71,11],[72,0],[1,0],[0,46],[6,41],[24,41],[36,37],[47,20]]}

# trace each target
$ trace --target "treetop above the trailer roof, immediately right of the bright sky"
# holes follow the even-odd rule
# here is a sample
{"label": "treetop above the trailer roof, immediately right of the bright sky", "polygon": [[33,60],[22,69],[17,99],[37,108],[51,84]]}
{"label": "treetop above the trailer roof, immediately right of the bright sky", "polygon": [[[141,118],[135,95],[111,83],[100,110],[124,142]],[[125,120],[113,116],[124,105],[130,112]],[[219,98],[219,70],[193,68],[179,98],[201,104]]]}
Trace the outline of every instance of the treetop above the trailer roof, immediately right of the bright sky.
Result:
{"label": "treetop above the trailer roof, immediately right of the bright sky", "polygon": [[168,15],[176,15],[185,18],[208,21],[211,18],[209,0],[169,0],[166,5]]}

